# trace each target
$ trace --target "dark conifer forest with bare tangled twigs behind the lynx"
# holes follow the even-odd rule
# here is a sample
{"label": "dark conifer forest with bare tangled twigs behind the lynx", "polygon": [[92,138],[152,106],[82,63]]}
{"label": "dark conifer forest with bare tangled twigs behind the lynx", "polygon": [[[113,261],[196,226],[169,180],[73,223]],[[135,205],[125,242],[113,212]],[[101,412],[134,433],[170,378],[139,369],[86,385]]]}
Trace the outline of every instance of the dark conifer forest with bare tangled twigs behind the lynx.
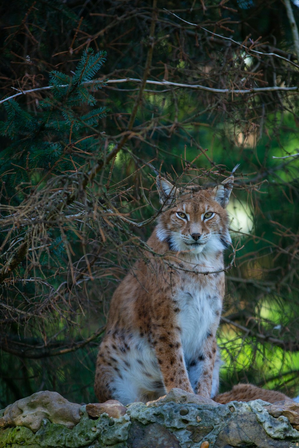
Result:
{"label": "dark conifer forest with bare tangled twigs behind the lynx", "polygon": [[110,298],[160,212],[149,162],[182,185],[240,164],[221,391],[299,392],[297,26],[290,0],[1,4],[0,408],[95,401]]}

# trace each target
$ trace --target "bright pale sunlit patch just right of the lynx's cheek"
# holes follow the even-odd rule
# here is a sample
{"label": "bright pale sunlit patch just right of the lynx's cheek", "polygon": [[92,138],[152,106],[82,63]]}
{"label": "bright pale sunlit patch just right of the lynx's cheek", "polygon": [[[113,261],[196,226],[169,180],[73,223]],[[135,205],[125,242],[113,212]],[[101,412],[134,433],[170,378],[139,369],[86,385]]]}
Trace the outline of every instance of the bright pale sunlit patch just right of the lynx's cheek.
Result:
{"label": "bright pale sunlit patch just right of the lynx's cheek", "polygon": [[232,233],[251,233],[253,229],[253,213],[246,202],[231,198],[227,211],[230,216]]}

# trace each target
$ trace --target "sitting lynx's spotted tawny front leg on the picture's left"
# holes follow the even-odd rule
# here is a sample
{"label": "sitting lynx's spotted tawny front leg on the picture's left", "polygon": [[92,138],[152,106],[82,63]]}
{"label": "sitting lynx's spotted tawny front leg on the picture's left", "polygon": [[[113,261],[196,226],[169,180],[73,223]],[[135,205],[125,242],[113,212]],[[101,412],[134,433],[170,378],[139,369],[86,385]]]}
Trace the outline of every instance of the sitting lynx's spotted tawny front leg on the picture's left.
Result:
{"label": "sitting lynx's spotted tawny front leg on the picture's left", "polygon": [[172,388],[180,388],[194,393],[186,370],[179,332],[161,328],[155,336],[153,345],[167,392]]}

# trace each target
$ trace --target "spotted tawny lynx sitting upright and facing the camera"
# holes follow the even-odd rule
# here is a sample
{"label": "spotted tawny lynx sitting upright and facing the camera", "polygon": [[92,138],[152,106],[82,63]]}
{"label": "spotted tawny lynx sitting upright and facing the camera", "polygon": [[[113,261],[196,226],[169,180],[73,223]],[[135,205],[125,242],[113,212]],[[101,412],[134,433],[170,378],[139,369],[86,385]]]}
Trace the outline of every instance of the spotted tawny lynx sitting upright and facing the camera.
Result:
{"label": "spotted tawny lynx sitting upright and facing the camera", "polygon": [[96,362],[100,402],[146,402],[171,388],[216,396],[223,252],[231,243],[225,207],[233,180],[179,191],[157,177],[164,209],[146,261],[135,263],[112,297]]}

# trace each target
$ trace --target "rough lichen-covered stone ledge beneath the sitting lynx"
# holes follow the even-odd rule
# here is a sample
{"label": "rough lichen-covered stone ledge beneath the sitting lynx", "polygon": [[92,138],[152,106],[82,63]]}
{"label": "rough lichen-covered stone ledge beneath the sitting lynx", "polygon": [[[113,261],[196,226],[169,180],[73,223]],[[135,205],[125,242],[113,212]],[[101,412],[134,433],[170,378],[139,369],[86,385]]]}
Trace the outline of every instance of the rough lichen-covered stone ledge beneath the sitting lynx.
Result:
{"label": "rough lichen-covered stone ledge beneath the sitting lynx", "polygon": [[117,401],[80,407],[39,392],[0,411],[0,448],[295,448],[297,411],[293,402],[221,405],[181,389],[127,408]]}

